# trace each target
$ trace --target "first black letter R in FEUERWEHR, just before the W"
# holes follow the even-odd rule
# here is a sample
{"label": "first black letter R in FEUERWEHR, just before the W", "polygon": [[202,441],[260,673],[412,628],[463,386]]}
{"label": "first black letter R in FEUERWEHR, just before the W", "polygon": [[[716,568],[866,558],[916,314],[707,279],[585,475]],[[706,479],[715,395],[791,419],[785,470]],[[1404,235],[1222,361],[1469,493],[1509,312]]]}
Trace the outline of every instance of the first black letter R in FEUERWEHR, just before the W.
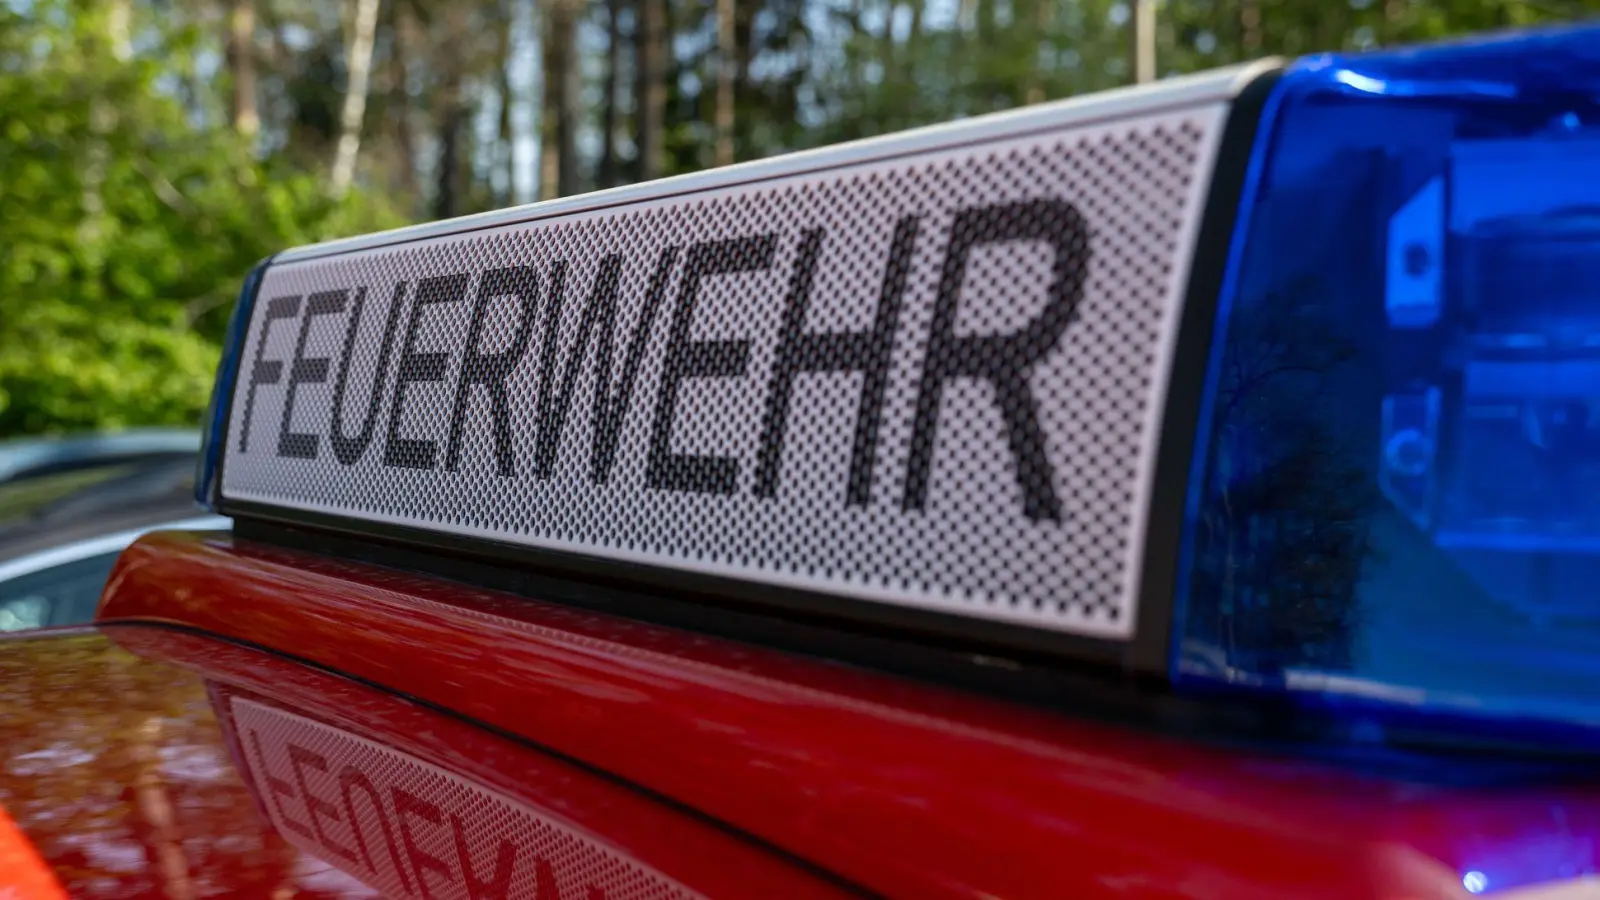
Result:
{"label": "first black letter R in FEUERWEHR, just before the W", "polygon": [[[510,404],[506,400],[506,380],[528,352],[533,336],[533,304],[538,299],[539,275],[531,266],[494,269],[483,275],[478,285],[478,301],[472,306],[472,327],[467,330],[467,354],[461,359],[461,376],[456,380],[456,410],[450,416],[450,442],[445,445],[445,469],[456,471],[461,464],[461,429],[467,412],[467,396],[474,384],[483,384],[490,392],[490,421],[494,428],[494,468],[502,476],[517,474],[510,447]],[[499,352],[483,352],[483,319],[490,301],[499,296],[517,298],[517,331],[510,346]],[[555,322],[546,317],[546,330],[555,333]]]}

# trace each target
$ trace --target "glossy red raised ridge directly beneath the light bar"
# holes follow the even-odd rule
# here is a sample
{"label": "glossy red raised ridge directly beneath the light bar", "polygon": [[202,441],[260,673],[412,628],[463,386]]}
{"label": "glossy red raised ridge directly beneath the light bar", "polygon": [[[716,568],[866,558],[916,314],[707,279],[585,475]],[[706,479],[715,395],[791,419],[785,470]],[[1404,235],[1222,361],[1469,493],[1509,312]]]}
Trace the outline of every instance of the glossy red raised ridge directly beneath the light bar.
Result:
{"label": "glossy red raised ridge directly beneath the light bar", "polygon": [[1584,786],[1362,778],[230,538],[146,538],[101,617],[285,649],[894,897],[1466,897],[1466,871],[1595,868]]}

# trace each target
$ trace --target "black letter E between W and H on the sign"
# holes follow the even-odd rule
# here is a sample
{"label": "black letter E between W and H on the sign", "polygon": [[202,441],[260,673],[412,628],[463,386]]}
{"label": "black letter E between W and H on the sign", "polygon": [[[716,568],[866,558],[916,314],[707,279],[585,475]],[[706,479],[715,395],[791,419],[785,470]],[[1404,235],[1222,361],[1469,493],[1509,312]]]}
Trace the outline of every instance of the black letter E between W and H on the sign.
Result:
{"label": "black letter E between W and H on the sign", "polygon": [[709,240],[690,247],[678,285],[678,311],[667,340],[656,423],[650,434],[645,484],[658,490],[733,493],[739,461],[731,456],[696,456],[672,452],[672,420],[678,413],[678,388],[688,378],[739,378],[750,362],[750,341],[691,341],[694,304],[701,280],[709,275],[755,272],[773,264],[776,235]]}

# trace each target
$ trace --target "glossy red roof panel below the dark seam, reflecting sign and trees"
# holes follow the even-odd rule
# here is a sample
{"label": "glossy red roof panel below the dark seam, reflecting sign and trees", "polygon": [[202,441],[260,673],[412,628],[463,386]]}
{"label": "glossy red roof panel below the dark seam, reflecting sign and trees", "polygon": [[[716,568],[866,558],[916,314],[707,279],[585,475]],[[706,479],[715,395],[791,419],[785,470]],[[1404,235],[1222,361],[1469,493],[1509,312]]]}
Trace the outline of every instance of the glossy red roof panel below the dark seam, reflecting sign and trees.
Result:
{"label": "glossy red roof panel below the dark seam, reflecting sign and trees", "polygon": [[0,639],[0,897],[374,895],[853,890],[602,773],[267,652],[141,625]]}

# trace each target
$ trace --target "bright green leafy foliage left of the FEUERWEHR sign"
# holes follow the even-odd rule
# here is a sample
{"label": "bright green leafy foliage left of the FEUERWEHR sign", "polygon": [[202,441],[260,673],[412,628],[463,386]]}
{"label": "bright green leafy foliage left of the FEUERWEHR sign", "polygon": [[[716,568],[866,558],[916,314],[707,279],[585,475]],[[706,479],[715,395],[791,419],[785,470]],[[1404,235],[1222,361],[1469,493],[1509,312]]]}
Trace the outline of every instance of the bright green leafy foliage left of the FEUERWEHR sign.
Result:
{"label": "bright green leafy foliage left of the FEUERWEHR sign", "polygon": [[243,274],[400,224],[197,127],[96,6],[0,10],[0,436],[198,421]]}

